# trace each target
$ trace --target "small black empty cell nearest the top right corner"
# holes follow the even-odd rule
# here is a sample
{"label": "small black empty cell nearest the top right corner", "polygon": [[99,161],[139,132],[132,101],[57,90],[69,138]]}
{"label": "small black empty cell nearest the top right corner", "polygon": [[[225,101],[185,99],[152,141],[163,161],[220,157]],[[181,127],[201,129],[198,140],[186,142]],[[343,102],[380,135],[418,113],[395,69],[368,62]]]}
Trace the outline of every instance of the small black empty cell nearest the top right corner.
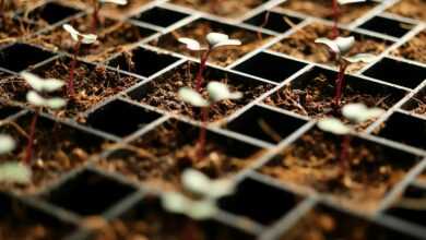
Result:
{"label": "small black empty cell nearest the top right corner", "polygon": [[359,26],[360,28],[389,35],[402,37],[409,33],[414,25],[382,16],[375,16]]}

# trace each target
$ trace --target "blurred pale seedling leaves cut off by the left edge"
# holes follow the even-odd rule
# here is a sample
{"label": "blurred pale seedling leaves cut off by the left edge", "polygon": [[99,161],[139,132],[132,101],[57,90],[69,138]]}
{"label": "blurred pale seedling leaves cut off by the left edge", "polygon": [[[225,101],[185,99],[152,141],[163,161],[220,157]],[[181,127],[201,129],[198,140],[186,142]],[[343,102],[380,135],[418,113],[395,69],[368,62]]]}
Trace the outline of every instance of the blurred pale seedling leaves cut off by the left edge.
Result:
{"label": "blurred pale seedling leaves cut off by the left edge", "polygon": [[[0,134],[0,155],[15,148],[15,141],[10,135]],[[0,164],[0,182],[25,184],[31,181],[32,171],[23,164],[9,161]]]}

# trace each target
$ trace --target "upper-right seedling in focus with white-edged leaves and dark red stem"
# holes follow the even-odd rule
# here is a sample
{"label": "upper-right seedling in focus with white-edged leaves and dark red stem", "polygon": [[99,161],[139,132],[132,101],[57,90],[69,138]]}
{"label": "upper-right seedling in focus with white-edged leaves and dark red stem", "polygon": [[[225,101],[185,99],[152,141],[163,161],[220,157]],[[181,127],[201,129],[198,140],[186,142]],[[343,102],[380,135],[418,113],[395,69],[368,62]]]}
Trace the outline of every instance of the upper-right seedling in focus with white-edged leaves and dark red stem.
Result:
{"label": "upper-right seedling in focus with white-edged leaves and dark red stem", "polygon": [[375,60],[376,56],[370,53],[357,53],[352,57],[345,57],[345,55],[355,45],[355,37],[353,36],[336,37],[335,39],[321,37],[317,38],[315,43],[326,45],[329,48],[329,51],[332,53],[335,64],[339,65],[339,73],[334,87],[334,106],[339,107],[341,105],[343,87],[345,86],[344,77],[347,67],[351,63],[356,62],[371,62]]}

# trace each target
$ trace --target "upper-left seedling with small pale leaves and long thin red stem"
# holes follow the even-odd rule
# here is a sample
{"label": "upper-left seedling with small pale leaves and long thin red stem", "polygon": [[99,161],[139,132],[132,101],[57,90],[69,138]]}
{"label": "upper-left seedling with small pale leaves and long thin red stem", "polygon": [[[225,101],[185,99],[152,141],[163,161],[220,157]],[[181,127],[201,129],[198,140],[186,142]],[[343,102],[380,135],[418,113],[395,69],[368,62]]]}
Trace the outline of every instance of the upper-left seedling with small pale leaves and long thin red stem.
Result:
{"label": "upper-left seedling with small pale leaves and long thin red stem", "polygon": [[69,74],[68,84],[67,84],[67,93],[70,97],[73,97],[75,95],[74,72],[75,72],[76,60],[78,60],[81,45],[82,44],[90,45],[90,44],[95,43],[97,39],[97,36],[94,34],[81,34],[79,31],[76,31],[73,26],[71,26],[69,24],[63,24],[62,27],[68,33],[70,33],[71,38],[75,41],[74,52],[73,52],[71,67],[70,67],[70,74]]}

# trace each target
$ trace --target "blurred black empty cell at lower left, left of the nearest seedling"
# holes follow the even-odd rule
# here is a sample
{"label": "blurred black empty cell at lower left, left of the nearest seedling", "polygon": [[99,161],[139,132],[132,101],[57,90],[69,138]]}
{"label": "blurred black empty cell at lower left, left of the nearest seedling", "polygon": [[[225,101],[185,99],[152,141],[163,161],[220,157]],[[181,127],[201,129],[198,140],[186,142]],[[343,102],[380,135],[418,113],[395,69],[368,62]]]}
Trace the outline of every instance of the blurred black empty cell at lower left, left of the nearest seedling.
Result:
{"label": "blurred black empty cell at lower left, left of the nearest seedling", "polygon": [[99,215],[135,191],[93,170],[76,173],[42,197],[80,215]]}

